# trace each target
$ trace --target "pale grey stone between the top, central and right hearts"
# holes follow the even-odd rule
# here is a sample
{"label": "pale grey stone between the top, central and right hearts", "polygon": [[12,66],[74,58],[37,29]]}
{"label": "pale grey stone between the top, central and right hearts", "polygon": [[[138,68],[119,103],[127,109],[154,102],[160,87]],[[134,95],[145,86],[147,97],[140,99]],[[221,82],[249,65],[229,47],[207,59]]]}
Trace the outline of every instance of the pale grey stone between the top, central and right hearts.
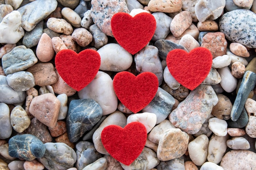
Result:
{"label": "pale grey stone between the top, central and right hearts", "polygon": [[163,81],[163,68],[158,56],[158,49],[155,46],[148,45],[141,49],[134,58],[136,70],[139,73],[151,72],[157,76],[158,84]]}

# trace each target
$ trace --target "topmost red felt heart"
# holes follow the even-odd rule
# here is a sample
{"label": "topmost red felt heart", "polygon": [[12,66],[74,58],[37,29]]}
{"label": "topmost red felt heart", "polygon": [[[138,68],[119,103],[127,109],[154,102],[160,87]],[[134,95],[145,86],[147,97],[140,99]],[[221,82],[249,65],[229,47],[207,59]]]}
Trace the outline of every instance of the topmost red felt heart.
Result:
{"label": "topmost red felt heart", "polygon": [[156,21],[147,12],[132,17],[128,13],[115,13],[111,18],[111,30],[117,42],[131,54],[144,48],[155,33]]}

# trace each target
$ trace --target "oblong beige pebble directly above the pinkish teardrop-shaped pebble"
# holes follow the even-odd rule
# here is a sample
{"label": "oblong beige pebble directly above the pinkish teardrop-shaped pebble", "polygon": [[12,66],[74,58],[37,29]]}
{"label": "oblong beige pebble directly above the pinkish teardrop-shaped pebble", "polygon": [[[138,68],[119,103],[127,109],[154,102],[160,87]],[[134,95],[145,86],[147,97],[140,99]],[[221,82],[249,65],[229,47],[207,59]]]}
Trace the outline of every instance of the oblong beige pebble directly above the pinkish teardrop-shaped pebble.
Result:
{"label": "oblong beige pebble directly above the pinkish teardrop-shaped pebble", "polygon": [[50,30],[56,33],[71,35],[73,32],[72,25],[68,23],[66,20],[61,18],[49,18],[46,24],[47,24],[47,28],[49,28]]}

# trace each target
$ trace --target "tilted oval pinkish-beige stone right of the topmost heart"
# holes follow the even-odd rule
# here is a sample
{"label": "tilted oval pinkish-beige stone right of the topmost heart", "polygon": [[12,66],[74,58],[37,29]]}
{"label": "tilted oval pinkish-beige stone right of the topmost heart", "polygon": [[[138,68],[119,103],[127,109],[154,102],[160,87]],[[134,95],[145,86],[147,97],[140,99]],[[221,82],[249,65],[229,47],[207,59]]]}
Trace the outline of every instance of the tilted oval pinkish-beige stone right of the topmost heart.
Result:
{"label": "tilted oval pinkish-beige stone right of the topmost heart", "polygon": [[192,24],[192,17],[189,11],[182,11],[173,18],[170,30],[173,36],[179,37]]}

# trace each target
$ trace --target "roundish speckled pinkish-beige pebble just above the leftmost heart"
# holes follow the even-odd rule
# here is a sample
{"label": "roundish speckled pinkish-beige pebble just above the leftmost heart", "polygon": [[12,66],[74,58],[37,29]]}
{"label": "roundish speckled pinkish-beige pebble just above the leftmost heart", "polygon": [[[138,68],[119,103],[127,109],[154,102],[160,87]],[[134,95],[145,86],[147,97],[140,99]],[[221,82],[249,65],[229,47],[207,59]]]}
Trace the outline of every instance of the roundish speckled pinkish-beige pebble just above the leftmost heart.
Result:
{"label": "roundish speckled pinkish-beige pebble just above the leftmost heart", "polygon": [[85,28],[75,29],[72,33],[72,38],[79,44],[79,46],[85,47],[92,42],[92,34]]}

